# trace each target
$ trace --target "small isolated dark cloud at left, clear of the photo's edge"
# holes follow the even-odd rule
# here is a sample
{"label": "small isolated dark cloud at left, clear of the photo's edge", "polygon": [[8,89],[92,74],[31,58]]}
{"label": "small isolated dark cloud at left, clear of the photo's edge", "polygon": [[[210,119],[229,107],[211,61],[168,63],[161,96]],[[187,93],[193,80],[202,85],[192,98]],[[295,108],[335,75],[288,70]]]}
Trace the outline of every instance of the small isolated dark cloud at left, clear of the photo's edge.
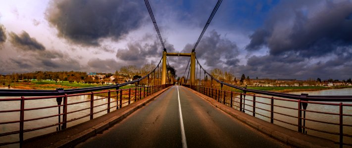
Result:
{"label": "small isolated dark cloud at left, clear of the photo's edge", "polygon": [[18,47],[21,50],[45,50],[43,44],[39,43],[34,37],[30,37],[25,31],[23,31],[22,34],[20,34],[19,36],[13,32],[9,33],[8,35],[10,37],[12,45]]}

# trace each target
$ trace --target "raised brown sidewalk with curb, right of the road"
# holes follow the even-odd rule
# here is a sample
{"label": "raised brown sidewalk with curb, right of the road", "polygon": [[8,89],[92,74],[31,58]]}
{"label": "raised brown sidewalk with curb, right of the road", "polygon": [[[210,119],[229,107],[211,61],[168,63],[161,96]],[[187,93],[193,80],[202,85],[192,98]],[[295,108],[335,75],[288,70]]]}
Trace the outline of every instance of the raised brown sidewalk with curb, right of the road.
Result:
{"label": "raised brown sidewalk with curb, right of the road", "polygon": [[338,148],[339,145],[335,144],[331,140],[314,137],[311,135],[302,134],[291,129],[281,127],[276,124],[271,124],[267,121],[261,120],[259,118],[253,117],[241,111],[237,111],[231,107],[228,107],[220,102],[217,102],[213,98],[203,95],[191,88],[188,88],[193,93],[197,94],[204,100],[208,101],[210,104],[216,108],[228,113],[229,115],[235,117],[239,121],[249,125],[253,129],[266,134],[282,143],[298,147],[298,148]]}

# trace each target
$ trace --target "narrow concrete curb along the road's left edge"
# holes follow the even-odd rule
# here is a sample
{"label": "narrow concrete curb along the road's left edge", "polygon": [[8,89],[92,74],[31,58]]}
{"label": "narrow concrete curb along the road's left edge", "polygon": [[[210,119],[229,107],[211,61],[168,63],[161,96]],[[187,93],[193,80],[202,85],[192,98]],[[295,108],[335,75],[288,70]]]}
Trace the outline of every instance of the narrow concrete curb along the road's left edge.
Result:
{"label": "narrow concrete curb along the road's left edge", "polygon": [[[119,115],[116,115],[112,118],[109,118],[109,119],[89,128],[87,130],[84,130],[83,132],[80,132],[76,135],[72,135],[72,136],[68,135],[67,138],[62,139],[58,142],[52,143],[47,148],[67,148],[67,147],[73,147],[81,142],[84,142],[85,140],[89,139],[90,137],[93,137],[96,134],[101,133],[102,131],[110,128],[114,124],[123,120],[124,118],[126,118],[128,115],[130,115],[134,111],[137,111],[138,109],[142,108],[143,106],[145,106],[146,104],[148,104],[149,102],[154,100],[161,93],[168,90],[170,87],[167,87],[159,92],[156,92],[153,95],[149,96],[149,98],[146,97],[146,99],[143,99],[140,102],[136,102],[136,104],[131,104],[131,105],[134,105],[134,107],[132,107],[126,111],[123,111],[122,113],[119,113]],[[116,110],[116,111],[118,111],[118,110]],[[112,113],[112,112],[110,112],[110,113]],[[106,114],[104,114],[104,115],[106,115]]]}

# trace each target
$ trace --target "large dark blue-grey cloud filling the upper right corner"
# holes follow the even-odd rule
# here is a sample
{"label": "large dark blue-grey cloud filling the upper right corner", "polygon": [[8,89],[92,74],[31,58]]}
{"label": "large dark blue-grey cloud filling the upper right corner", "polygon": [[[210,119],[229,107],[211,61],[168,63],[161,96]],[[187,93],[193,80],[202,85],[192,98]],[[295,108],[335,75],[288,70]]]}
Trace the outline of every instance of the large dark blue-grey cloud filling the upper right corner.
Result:
{"label": "large dark blue-grey cloud filling the upper right corner", "polygon": [[352,45],[352,20],[346,19],[351,13],[351,1],[285,1],[250,36],[246,49],[267,46],[271,55],[296,52],[302,57],[330,54]]}

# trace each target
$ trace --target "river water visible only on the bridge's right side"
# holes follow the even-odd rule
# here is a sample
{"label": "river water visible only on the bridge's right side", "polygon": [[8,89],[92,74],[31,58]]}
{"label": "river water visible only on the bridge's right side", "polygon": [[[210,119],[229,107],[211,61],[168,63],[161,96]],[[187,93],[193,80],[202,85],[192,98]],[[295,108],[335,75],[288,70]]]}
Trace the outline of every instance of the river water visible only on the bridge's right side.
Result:
{"label": "river water visible only on the bridge's right side", "polygon": [[[320,90],[320,91],[302,91],[302,92],[291,92],[291,94],[302,94],[302,93],[307,93],[309,95],[352,95],[352,88],[344,88],[344,89],[327,89],[327,90]],[[260,95],[260,96],[265,96],[265,95]],[[267,96],[268,97],[268,96]],[[271,97],[271,96],[270,96]],[[252,100],[251,96],[246,96],[246,99]],[[256,101],[258,102],[263,102],[270,104],[270,99],[266,98],[260,98],[256,97]],[[340,102],[329,102],[329,103],[340,103]],[[251,101],[247,101],[246,104],[252,105]],[[352,104],[352,102],[343,102],[343,104]],[[298,108],[298,103],[297,102],[288,102],[288,101],[281,101],[281,100],[274,100],[274,105],[279,105],[279,106],[284,106],[284,107],[290,107],[297,109]],[[270,106],[269,105],[264,105],[260,103],[256,103],[256,108],[263,108],[266,110],[270,111]],[[252,111],[252,107],[246,106],[246,108],[250,111]],[[322,111],[322,112],[331,112],[331,113],[339,113],[339,106],[329,106],[329,105],[318,105],[318,104],[308,104],[307,110],[310,111]],[[251,114],[250,111],[246,111],[246,113]],[[291,109],[286,109],[286,108],[280,108],[280,107],[274,107],[274,111],[284,113],[284,114],[289,114],[292,116],[298,116],[298,111],[297,110],[291,110]],[[263,111],[260,109],[256,109],[256,112],[270,116],[270,112],[268,111]],[[352,114],[352,107],[343,107],[343,113],[344,114]],[[303,113],[302,113],[303,116]],[[256,117],[263,119],[265,121],[270,122],[270,119],[261,115],[256,114]],[[298,124],[298,119],[294,117],[289,117],[289,116],[284,116],[278,113],[274,113],[274,118],[277,118],[279,120],[283,120],[289,123],[293,124]],[[332,122],[332,123],[339,123],[339,115],[331,115],[331,114],[322,114],[322,113],[315,113],[315,112],[308,112],[306,111],[306,118],[307,119],[313,119],[313,120],[319,120],[319,121],[326,121],[326,122]],[[343,123],[344,124],[352,124],[352,116],[344,116],[343,117]],[[297,131],[298,127],[283,123],[280,121],[274,120],[274,124],[292,129]],[[303,121],[302,121],[303,124]],[[325,124],[325,123],[319,123],[319,122],[313,122],[313,121],[305,121],[305,126],[306,127],[311,127],[314,129],[318,130],[324,130],[324,131],[329,131],[329,132],[335,132],[339,133],[339,125],[332,125],[332,124]],[[352,127],[344,126],[343,128],[344,134],[350,134],[352,135]],[[332,134],[326,134],[314,130],[309,130],[305,129],[307,134],[317,136],[317,137],[322,137],[326,139],[330,139],[333,141],[338,142],[339,141],[339,136],[338,135],[332,135]],[[352,138],[349,137],[344,137],[344,143],[350,143],[352,144]]]}

